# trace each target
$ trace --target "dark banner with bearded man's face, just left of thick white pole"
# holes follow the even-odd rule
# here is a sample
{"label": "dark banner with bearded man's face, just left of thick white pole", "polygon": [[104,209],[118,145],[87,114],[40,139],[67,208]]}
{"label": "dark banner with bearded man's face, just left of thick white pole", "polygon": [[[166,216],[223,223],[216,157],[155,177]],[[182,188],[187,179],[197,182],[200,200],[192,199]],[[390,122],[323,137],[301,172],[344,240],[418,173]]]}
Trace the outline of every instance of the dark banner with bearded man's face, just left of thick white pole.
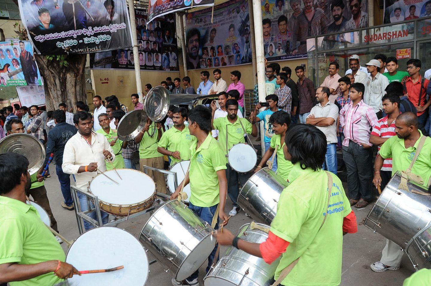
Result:
{"label": "dark banner with bearded man's face, just left of thick white pole", "polygon": [[231,0],[212,9],[187,13],[187,69],[251,62],[248,3]]}

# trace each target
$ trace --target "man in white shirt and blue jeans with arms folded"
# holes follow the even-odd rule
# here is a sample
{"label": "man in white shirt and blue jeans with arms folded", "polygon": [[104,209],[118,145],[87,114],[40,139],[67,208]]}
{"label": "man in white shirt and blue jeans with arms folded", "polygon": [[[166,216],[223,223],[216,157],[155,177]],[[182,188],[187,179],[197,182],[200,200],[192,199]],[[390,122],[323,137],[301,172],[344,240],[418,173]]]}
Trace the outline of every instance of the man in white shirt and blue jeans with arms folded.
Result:
{"label": "man in white shirt and blue jeans with arms folded", "polygon": [[319,87],[316,90],[315,105],[306,119],[306,124],[311,124],[320,129],[326,136],[327,149],[323,169],[337,174],[337,118],[338,107],[329,100],[331,91],[328,87]]}

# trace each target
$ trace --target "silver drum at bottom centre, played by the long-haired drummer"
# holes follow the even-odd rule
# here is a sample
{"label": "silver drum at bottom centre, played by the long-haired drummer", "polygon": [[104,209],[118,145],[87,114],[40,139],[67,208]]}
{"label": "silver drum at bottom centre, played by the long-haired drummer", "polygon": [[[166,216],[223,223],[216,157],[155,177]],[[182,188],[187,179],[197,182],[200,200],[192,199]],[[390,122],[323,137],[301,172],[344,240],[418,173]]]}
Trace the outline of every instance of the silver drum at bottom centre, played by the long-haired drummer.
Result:
{"label": "silver drum at bottom centre, played by the long-haired drummer", "polygon": [[[265,224],[258,224],[268,227]],[[235,236],[245,241],[262,243],[268,238],[268,233],[259,229],[251,229],[250,224],[244,224]],[[205,286],[270,286],[274,282],[274,274],[280,258],[267,264],[262,258],[248,254],[233,246],[229,246],[225,255],[215,267],[209,270],[204,280]]]}

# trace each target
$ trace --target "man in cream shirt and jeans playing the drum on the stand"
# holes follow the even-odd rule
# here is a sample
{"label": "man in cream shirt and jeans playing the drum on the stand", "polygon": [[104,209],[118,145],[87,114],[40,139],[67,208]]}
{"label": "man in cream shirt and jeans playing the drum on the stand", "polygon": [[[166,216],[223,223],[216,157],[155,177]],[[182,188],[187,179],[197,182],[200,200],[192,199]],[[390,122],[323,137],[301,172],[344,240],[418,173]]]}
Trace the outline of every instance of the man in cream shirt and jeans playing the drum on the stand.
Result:
{"label": "man in cream shirt and jeans playing the drum on the stand", "polygon": [[[97,118],[95,116],[95,118]],[[91,128],[93,122],[88,112],[80,111],[74,115],[73,121],[78,132],[67,141],[63,152],[62,170],[66,174],[75,175],[75,186],[81,190],[87,190],[88,182],[97,175],[97,171],[106,171],[105,159],[115,160],[115,154],[109,145],[108,140],[99,133],[94,133]],[[97,119],[95,120],[97,121]],[[78,193],[81,211],[87,211],[87,197]],[[91,203],[91,208],[94,208]],[[75,206],[76,207],[76,206]],[[108,223],[108,214],[101,212],[103,224]],[[88,214],[96,219],[94,212]],[[93,226],[84,220],[85,230]]]}

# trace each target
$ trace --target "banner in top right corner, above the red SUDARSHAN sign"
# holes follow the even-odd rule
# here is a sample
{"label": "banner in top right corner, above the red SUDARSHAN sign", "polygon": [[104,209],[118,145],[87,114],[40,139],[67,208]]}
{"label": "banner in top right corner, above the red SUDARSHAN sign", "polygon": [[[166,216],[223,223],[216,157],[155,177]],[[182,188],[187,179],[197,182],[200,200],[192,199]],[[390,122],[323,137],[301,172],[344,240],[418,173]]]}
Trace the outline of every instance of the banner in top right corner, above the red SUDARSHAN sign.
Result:
{"label": "banner in top right corner, above the red SUDARSHAN sign", "polygon": [[396,23],[431,16],[430,0],[385,0],[383,23]]}

